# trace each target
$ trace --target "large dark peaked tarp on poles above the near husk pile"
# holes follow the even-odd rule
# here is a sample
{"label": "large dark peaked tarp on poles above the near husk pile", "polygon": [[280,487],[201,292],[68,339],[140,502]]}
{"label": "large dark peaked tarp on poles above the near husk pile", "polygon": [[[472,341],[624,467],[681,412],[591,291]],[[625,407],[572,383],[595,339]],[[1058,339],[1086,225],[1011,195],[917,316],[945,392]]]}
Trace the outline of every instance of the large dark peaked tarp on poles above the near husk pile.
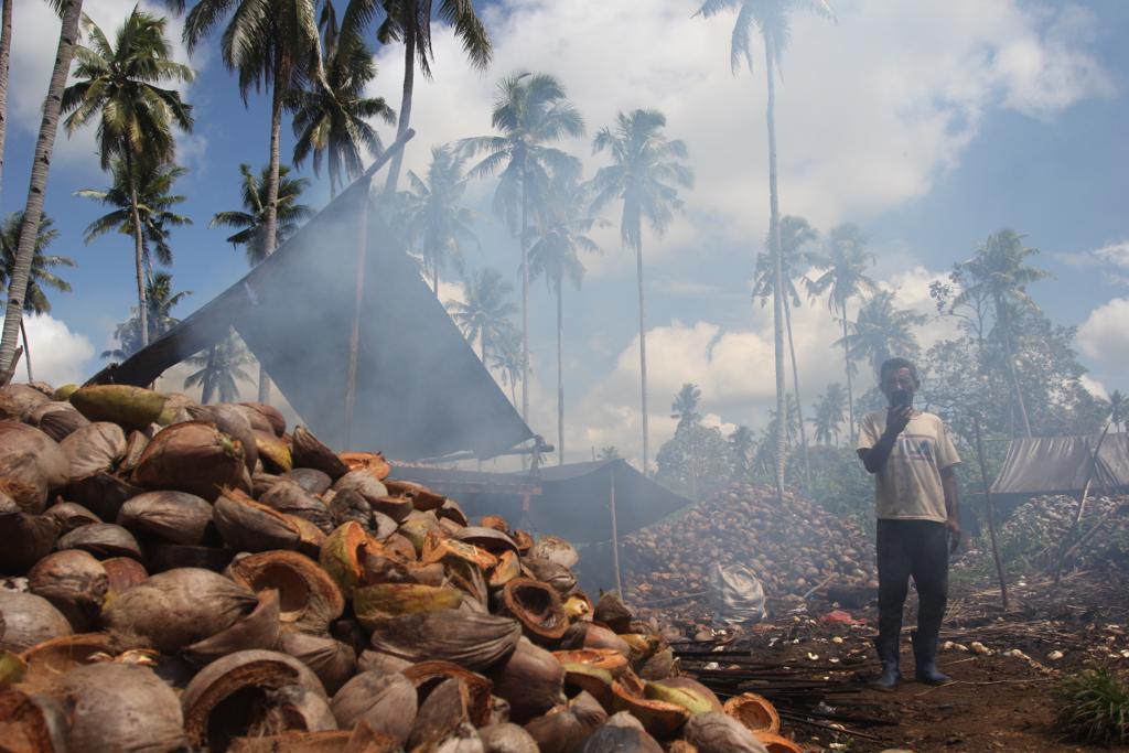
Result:
{"label": "large dark peaked tarp on poles above the near husk pile", "polygon": [[405,141],[242,280],[90,382],[147,385],[234,327],[332,447],[487,458],[532,438],[373,205],[373,174]]}

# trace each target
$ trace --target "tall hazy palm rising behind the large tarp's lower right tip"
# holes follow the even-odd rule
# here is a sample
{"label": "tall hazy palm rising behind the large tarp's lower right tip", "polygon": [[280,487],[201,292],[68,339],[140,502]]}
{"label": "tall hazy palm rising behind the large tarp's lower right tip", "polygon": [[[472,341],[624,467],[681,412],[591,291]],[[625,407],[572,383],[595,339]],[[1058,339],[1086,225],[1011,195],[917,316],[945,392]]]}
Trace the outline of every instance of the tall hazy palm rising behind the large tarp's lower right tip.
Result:
{"label": "tall hazy palm rising behind the large tarp's lower right tip", "polygon": [[550,172],[579,169],[579,160],[549,146],[584,135],[584,119],[554,77],[522,71],[498,85],[490,122],[501,135],[460,142],[467,154],[485,152],[471,177],[500,170],[493,208],[522,245],[522,418],[530,418],[530,220],[541,205]]}

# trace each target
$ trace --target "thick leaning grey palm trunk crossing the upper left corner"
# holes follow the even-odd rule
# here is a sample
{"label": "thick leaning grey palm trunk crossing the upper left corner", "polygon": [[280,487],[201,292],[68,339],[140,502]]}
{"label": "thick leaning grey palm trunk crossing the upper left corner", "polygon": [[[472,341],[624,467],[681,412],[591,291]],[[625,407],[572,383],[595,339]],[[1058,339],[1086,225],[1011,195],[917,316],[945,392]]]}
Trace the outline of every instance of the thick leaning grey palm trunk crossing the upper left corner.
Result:
{"label": "thick leaning grey palm trunk crossing the upper left corner", "polygon": [[40,233],[40,220],[43,218],[43,200],[47,190],[47,174],[51,170],[51,151],[55,143],[55,133],[59,131],[63,87],[67,85],[67,73],[70,71],[71,58],[75,54],[78,20],[81,15],[82,0],[64,0],[59,47],[51,71],[47,96],[43,102],[43,120],[40,123],[40,135],[35,141],[24,222],[19,229],[16,263],[8,284],[8,308],[3,321],[3,334],[0,336],[0,373],[11,368],[19,324],[24,321],[24,298],[27,296],[27,282],[32,273],[32,260],[35,256],[35,240]]}

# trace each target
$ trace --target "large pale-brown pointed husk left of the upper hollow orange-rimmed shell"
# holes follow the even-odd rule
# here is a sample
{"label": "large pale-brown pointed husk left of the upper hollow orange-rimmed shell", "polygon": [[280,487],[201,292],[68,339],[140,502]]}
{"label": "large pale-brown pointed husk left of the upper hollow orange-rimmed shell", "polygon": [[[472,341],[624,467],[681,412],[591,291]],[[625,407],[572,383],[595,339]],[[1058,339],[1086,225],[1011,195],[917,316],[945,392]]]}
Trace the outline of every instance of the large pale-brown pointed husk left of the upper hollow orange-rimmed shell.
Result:
{"label": "large pale-brown pointed husk left of the upper hollow orange-rimmed shell", "polygon": [[124,645],[175,654],[231,627],[257,604],[250,588],[224,576],[181,568],[128,589],[106,606],[103,616]]}

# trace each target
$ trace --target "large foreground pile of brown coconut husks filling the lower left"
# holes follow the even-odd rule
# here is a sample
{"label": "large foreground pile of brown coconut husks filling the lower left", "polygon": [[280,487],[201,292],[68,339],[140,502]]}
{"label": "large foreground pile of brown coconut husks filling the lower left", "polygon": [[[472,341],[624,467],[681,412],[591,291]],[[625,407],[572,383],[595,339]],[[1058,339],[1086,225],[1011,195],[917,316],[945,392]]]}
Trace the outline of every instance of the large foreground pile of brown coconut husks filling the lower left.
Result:
{"label": "large foreground pile of brown coconut husks filling the lower left", "polygon": [[791,745],[593,604],[567,542],[388,473],[266,405],[0,388],[0,747]]}

